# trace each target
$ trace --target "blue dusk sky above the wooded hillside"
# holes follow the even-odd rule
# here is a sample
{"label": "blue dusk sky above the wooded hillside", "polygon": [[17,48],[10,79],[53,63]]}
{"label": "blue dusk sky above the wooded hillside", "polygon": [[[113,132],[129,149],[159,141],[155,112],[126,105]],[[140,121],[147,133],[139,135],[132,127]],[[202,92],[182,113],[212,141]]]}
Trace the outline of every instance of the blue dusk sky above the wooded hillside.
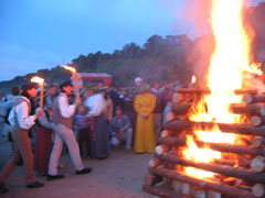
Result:
{"label": "blue dusk sky above the wooded hillside", "polygon": [[202,1],[0,0],[0,81],[81,54],[113,53],[131,42],[142,46],[153,34],[195,37],[203,31],[186,11]]}

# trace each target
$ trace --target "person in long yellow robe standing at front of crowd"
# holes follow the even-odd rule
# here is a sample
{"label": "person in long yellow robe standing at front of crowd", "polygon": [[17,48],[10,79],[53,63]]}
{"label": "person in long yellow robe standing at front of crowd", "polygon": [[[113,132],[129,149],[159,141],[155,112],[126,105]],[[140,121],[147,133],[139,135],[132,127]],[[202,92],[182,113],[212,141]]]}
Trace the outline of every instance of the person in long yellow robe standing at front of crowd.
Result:
{"label": "person in long yellow robe standing at front of crowd", "polygon": [[157,144],[152,118],[156,96],[149,92],[149,86],[140,87],[140,94],[135,97],[134,106],[137,112],[135,152],[153,153]]}

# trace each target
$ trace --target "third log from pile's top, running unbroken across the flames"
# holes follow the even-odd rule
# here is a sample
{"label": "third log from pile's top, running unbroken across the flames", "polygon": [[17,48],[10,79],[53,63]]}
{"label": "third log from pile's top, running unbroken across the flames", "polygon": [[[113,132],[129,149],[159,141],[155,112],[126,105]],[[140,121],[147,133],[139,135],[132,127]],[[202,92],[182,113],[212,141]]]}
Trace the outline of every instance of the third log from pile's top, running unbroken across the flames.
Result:
{"label": "third log from pile's top, running unbroken across the flames", "polygon": [[213,129],[214,125],[218,125],[220,131],[226,133],[237,133],[245,135],[261,135],[265,136],[265,127],[253,128],[251,124],[229,124],[229,123],[212,123],[212,122],[192,122],[192,121],[183,121],[183,120],[173,120],[163,125],[166,130],[176,130],[181,132],[183,130],[194,130],[199,127],[201,130]]}

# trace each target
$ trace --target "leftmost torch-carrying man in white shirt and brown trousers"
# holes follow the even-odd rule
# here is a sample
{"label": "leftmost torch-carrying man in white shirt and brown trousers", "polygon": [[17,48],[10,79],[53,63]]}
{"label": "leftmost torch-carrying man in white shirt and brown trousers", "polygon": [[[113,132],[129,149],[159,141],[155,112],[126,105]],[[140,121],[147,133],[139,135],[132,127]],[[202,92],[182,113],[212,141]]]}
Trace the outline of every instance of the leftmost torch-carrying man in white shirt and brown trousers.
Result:
{"label": "leftmost torch-carrying man in white shirt and brown trousers", "polygon": [[40,109],[34,116],[30,116],[31,105],[30,99],[36,96],[36,85],[35,84],[24,84],[21,86],[22,96],[18,96],[14,99],[14,107],[11,109],[9,114],[9,122],[12,127],[12,139],[13,139],[13,154],[9,160],[8,164],[3,168],[0,176],[0,191],[7,193],[8,189],[4,186],[8,176],[12,172],[18,160],[22,156],[25,165],[26,174],[26,187],[28,188],[39,188],[44,186],[44,184],[35,179],[33,173],[33,154],[31,148],[31,142],[29,138],[29,129],[35,123],[36,117],[43,114],[43,110]]}

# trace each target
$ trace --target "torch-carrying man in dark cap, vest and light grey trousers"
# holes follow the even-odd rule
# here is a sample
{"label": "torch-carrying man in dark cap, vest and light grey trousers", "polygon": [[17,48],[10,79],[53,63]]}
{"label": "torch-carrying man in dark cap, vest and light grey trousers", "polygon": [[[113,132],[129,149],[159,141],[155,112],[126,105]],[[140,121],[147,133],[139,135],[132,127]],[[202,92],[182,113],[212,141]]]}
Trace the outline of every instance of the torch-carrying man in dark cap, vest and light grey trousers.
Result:
{"label": "torch-carrying man in dark cap, vest and light grey trousers", "polygon": [[73,85],[70,80],[63,82],[60,88],[62,92],[56,97],[53,106],[52,121],[54,123],[53,130],[55,132],[55,140],[49,162],[47,180],[61,179],[64,177],[57,174],[57,165],[63,148],[63,142],[67,145],[71,160],[75,167],[75,174],[88,174],[92,169],[89,167],[85,168],[82,163],[80,147],[72,127],[72,117],[76,106],[81,105],[81,98],[76,97],[75,103],[68,105],[68,97],[73,95]]}

